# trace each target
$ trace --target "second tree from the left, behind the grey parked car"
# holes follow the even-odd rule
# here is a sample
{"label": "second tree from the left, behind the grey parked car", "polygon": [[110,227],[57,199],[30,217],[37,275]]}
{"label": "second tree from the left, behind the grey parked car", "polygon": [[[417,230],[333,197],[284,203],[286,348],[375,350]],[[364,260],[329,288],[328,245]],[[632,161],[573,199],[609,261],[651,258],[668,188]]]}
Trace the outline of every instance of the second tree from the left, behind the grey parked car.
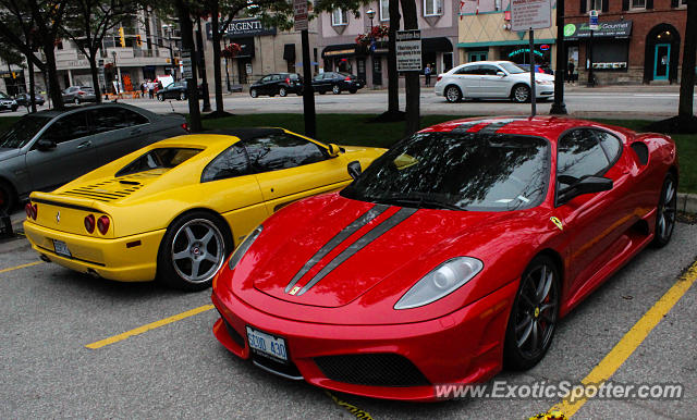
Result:
{"label": "second tree from the left, behind the grey parked car", "polygon": [[72,39],[89,61],[95,96],[97,102],[101,102],[97,54],[107,33],[132,18],[137,3],[134,0],[68,0],[66,3],[60,34]]}

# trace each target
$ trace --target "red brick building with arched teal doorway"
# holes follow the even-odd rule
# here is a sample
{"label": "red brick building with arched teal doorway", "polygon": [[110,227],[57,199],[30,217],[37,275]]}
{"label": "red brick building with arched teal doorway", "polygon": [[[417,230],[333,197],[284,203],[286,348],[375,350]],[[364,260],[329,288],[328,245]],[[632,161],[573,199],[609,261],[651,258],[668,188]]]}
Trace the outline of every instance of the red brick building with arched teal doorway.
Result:
{"label": "red brick building with arched teal doorway", "polygon": [[588,11],[599,12],[592,67],[599,84],[680,81],[687,0],[566,0],[566,54],[582,83],[588,79]]}

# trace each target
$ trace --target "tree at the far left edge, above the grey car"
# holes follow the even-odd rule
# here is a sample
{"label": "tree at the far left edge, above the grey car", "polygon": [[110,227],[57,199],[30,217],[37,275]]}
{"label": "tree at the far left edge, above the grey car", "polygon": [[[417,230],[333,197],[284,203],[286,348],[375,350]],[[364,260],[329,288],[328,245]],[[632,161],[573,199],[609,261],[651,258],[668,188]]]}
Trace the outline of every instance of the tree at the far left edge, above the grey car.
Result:
{"label": "tree at the far left edge, above the grey car", "polygon": [[[56,41],[58,32],[65,15],[65,1],[62,0],[0,0],[0,9],[4,17],[12,16],[16,26],[13,28],[8,21],[0,20],[0,35],[28,59],[37,63],[47,78],[49,96],[56,108],[63,108],[58,72],[56,70]],[[16,32],[16,27],[24,28],[26,22],[32,21],[30,30],[34,35],[34,46],[44,52],[45,63],[41,63],[32,51],[26,39]],[[14,29],[14,30],[13,30]]]}

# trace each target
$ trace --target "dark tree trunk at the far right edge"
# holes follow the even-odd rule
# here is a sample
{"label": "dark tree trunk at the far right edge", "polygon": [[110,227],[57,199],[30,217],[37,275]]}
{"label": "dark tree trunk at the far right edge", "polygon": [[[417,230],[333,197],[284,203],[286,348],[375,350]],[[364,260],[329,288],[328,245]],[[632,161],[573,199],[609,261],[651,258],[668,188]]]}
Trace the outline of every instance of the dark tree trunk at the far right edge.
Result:
{"label": "dark tree trunk at the far right edge", "polygon": [[687,27],[685,28],[685,49],[683,50],[683,71],[680,83],[680,106],[677,115],[681,120],[694,116],[693,100],[695,97],[695,55],[697,54],[697,1],[687,2]]}

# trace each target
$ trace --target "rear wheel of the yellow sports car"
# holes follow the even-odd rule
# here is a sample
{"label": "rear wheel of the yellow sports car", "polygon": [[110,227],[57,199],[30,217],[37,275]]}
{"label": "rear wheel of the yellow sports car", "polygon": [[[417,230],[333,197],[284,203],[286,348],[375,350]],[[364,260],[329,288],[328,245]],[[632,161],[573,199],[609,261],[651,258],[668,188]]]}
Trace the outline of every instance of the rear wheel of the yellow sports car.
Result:
{"label": "rear wheel of the yellow sports car", "polygon": [[158,280],[186,292],[210,287],[232,251],[232,235],[215,215],[193,211],[167,228],[157,256]]}

